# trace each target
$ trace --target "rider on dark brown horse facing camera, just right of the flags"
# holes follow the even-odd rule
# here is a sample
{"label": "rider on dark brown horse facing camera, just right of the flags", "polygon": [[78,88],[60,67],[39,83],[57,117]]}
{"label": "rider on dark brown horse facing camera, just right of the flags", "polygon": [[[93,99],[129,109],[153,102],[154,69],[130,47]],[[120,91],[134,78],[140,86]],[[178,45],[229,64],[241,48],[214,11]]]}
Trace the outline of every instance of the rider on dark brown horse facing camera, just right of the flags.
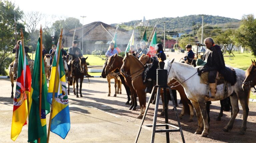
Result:
{"label": "rider on dark brown horse facing camera, just right of the flags", "polygon": [[[72,70],[74,69],[74,60],[76,58],[81,58],[83,57],[82,51],[80,50],[80,48],[77,46],[78,42],[76,40],[73,41],[73,45],[68,49],[68,54],[69,56],[69,66],[72,67]],[[72,57],[72,62],[71,62],[71,57]],[[73,71],[72,71],[72,77],[74,77]]]}

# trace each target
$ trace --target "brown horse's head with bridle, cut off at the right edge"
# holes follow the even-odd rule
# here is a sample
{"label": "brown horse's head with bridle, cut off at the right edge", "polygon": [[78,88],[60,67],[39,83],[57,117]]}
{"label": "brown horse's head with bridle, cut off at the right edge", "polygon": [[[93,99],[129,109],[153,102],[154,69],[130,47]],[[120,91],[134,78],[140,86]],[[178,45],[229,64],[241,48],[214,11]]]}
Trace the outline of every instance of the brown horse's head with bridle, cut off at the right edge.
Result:
{"label": "brown horse's head with bridle, cut off at the right edge", "polygon": [[[252,60],[251,66],[246,70],[246,78],[243,82],[242,88],[245,90],[246,87],[251,88],[256,85],[256,62]],[[248,85],[248,86],[246,86]]]}

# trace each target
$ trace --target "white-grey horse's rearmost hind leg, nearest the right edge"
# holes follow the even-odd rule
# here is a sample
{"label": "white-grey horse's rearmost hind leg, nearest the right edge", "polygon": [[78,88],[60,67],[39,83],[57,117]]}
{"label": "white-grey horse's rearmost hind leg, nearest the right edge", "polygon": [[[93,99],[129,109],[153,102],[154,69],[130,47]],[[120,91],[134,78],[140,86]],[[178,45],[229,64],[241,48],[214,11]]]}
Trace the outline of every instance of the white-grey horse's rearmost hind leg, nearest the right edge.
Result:
{"label": "white-grey horse's rearmost hind leg, nearest the right edge", "polygon": [[[248,107],[248,98],[250,96],[250,91],[241,91],[241,93],[239,93],[239,101],[240,101],[240,104],[243,108],[243,124],[242,124],[242,127],[239,131],[239,134],[245,134],[245,131],[246,131],[246,123],[247,123],[247,117],[248,117],[248,113],[249,113],[249,107]],[[248,97],[248,98],[247,98]]]}

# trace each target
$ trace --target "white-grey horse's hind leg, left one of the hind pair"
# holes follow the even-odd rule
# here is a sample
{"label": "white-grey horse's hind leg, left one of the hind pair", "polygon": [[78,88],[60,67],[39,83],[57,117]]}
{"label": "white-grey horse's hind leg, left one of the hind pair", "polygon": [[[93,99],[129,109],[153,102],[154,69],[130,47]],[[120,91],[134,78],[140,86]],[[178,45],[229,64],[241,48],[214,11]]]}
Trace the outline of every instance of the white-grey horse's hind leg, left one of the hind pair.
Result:
{"label": "white-grey horse's hind leg, left one of the hind pair", "polygon": [[232,94],[232,96],[230,96],[230,102],[232,105],[232,116],[228,122],[228,124],[224,127],[223,131],[228,132],[229,130],[231,130],[233,128],[233,124],[234,121],[236,119],[237,113],[239,112],[239,107],[238,107],[238,97],[236,94]]}

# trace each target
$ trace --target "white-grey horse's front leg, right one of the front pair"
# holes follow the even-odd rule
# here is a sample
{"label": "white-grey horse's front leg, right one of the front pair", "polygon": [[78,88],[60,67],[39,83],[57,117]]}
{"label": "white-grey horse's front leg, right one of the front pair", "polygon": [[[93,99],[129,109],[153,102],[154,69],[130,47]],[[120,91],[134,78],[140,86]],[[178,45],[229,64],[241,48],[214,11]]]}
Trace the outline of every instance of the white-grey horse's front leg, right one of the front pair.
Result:
{"label": "white-grey horse's front leg, right one of the front pair", "polygon": [[204,130],[201,134],[201,137],[207,137],[209,134],[209,123],[208,123],[208,115],[206,112],[206,102],[205,101],[198,101],[200,110],[201,110],[201,114],[203,117],[203,121],[204,121]]}

